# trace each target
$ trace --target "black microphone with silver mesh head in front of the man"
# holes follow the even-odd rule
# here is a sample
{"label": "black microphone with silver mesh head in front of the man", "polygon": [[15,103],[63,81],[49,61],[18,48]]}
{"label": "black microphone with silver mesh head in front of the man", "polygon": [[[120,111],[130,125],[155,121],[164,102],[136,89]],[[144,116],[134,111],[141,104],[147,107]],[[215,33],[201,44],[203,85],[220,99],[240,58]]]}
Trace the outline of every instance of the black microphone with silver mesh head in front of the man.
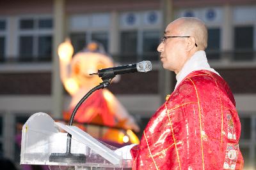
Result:
{"label": "black microphone with silver mesh head in front of the man", "polygon": [[98,73],[91,73],[90,75],[98,74],[99,77],[102,77],[106,74],[113,74],[114,76],[116,76],[117,74],[134,73],[134,72],[146,73],[150,70],[152,70],[151,62],[149,60],[143,60],[135,64],[128,64],[124,66],[99,69]]}

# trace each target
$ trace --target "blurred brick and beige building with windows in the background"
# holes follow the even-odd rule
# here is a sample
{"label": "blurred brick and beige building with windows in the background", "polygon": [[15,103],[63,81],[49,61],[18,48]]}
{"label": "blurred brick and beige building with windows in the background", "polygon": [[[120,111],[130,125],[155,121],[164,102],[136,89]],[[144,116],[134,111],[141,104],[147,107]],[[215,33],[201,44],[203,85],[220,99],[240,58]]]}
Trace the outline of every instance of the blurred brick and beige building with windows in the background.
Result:
{"label": "blurred brick and beige building with windows in the background", "polygon": [[[90,41],[113,60],[150,60],[147,74],[124,74],[109,86],[140,125],[174,89],[156,51],[166,25],[198,17],[209,30],[207,57],[228,82],[242,125],[239,143],[245,169],[256,167],[256,1],[255,0],[15,0],[0,1],[0,157],[17,168],[20,126],[38,111],[61,119],[70,96],[60,80],[58,45],[70,38],[74,53]],[[17,141],[17,140],[16,140]]]}

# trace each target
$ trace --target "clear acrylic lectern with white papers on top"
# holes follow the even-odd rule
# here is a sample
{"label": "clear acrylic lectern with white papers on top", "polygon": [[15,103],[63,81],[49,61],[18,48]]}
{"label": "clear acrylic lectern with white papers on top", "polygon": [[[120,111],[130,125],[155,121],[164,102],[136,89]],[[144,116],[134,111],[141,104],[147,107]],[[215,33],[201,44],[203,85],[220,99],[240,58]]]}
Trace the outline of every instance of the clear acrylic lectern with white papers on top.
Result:
{"label": "clear acrylic lectern with white papers on top", "polygon": [[[65,153],[67,132],[72,135],[71,153],[83,154],[84,162],[52,161],[52,153]],[[74,169],[123,169],[132,167],[131,159],[122,159],[115,147],[102,143],[76,126],[54,120],[46,113],[35,113],[22,127],[20,164],[74,167]],[[52,168],[51,168],[52,167]]]}

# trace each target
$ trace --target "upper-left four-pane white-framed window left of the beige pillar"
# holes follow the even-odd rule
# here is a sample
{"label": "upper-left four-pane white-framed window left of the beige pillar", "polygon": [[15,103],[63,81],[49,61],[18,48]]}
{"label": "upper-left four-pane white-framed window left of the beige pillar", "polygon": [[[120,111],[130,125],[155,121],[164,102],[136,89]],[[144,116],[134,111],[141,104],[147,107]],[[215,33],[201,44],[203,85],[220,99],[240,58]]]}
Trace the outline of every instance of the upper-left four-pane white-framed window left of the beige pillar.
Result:
{"label": "upper-left four-pane white-framed window left of the beige pillar", "polygon": [[52,55],[52,19],[22,18],[19,20],[19,60],[49,61]]}

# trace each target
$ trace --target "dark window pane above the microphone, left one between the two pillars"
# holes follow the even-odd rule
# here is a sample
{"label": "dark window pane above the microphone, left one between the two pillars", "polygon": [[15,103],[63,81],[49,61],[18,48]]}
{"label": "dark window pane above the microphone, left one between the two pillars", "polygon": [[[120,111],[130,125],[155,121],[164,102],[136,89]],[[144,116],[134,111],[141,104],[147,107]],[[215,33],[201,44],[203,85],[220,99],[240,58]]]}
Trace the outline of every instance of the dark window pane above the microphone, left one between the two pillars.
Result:
{"label": "dark window pane above the microphone, left one between the two pillars", "polygon": [[122,61],[136,61],[137,31],[122,31],[120,37]]}

